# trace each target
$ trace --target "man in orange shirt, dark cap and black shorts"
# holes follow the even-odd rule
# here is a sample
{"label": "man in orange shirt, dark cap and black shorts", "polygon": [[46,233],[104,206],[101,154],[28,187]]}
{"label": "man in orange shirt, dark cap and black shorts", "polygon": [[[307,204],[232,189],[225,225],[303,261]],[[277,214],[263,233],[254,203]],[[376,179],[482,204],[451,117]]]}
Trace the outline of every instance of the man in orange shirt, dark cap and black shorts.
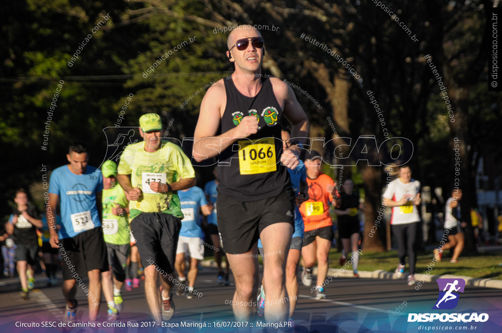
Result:
{"label": "man in orange shirt, dark cap and black shorts", "polygon": [[326,298],[323,283],[328,273],[328,253],[333,240],[333,222],[329,212],[340,205],[333,180],[321,173],[321,155],[311,150],[305,160],[309,197],[300,207],[305,223],[302,247],[302,283],[312,284],[312,267],[317,261],[316,298]]}

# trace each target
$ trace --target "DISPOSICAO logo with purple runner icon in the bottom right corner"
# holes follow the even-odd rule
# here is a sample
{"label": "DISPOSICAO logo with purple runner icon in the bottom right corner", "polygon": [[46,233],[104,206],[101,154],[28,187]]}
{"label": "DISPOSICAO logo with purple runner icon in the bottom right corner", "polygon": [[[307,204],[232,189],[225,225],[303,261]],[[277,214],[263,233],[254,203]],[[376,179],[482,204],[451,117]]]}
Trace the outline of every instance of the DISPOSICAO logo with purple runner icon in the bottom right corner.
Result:
{"label": "DISPOSICAO logo with purple runner icon in the bottom right corner", "polygon": [[[449,310],[458,305],[459,292],[464,292],[464,279],[437,279],[439,295],[436,304],[432,307],[435,310]],[[487,313],[409,313],[408,322],[411,321],[462,321],[462,322],[484,322],[488,320]]]}

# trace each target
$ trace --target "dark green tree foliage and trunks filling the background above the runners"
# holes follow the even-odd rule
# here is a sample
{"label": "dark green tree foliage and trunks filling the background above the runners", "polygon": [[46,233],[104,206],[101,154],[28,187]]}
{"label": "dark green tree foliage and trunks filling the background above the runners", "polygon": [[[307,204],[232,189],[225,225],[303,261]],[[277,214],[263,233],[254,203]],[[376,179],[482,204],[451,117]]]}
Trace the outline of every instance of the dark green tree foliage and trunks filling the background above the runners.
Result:
{"label": "dark green tree foliage and trunks filling the background above the runners", "polygon": [[[491,149],[500,154],[498,145],[492,143],[497,132],[492,128],[500,126],[494,112],[500,109],[500,95],[487,92],[482,51],[490,4],[386,2],[418,42],[370,0],[336,4],[31,0],[5,4],[0,140],[9,161],[3,165],[4,174],[14,177],[7,177],[0,190],[10,198],[16,188],[40,182],[40,165],[52,170],[64,164],[71,140],[86,141],[92,147],[90,163],[99,164],[106,151],[103,128],[114,126],[121,110],[122,127],[137,126],[141,114],[156,112],[165,124],[174,119],[168,136],[192,137],[208,84],[233,70],[225,55],[229,32],[215,28],[236,24],[269,26],[261,30],[267,50],[264,71],[306,91],[293,89],[308,113],[312,137],[328,141],[334,128],[338,135],[352,137],[352,145],[359,135],[375,135],[380,145],[386,137],[368,98],[367,91],[372,91],[389,137],[402,136],[414,144],[410,161],[414,177],[423,185],[450,188],[453,137],[461,136],[465,145],[462,177],[472,178],[481,153]],[[80,43],[107,15],[109,19],[69,66]],[[316,42],[342,57],[360,77],[355,78],[340,58]],[[458,126],[449,121],[426,54],[445,77]],[[63,89],[50,123],[48,150],[43,151],[47,109],[60,80],[64,80]],[[131,95],[134,97],[123,110]],[[339,156],[330,144],[314,146],[325,150],[330,161]],[[342,156],[349,151],[342,149]],[[203,168],[199,172],[206,174]],[[337,177],[332,169],[328,172]],[[380,208],[384,168],[367,167],[359,161],[356,169],[346,168],[345,172],[364,188],[367,234]],[[473,192],[472,182],[466,180],[465,184],[469,191],[464,193]],[[385,248],[384,229],[378,233],[378,237],[366,239],[366,246]]]}

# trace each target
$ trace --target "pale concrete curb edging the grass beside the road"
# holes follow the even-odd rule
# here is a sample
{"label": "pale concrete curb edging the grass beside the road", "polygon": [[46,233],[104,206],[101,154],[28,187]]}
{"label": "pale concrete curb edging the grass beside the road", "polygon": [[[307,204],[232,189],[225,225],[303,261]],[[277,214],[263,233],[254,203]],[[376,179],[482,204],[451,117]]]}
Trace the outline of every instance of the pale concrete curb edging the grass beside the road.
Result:
{"label": "pale concrete curb edging the grass beside the road", "polygon": [[[225,267],[225,263],[221,263],[223,267]],[[216,268],[216,262],[214,260],[203,260],[200,262],[202,267],[211,267]],[[360,278],[365,279],[388,279],[388,280],[406,280],[408,277],[407,272],[404,274],[398,274],[395,272],[388,272],[382,269],[378,269],[375,271],[358,271]],[[317,267],[314,267],[312,270],[312,274],[317,275]],[[334,276],[337,277],[353,277],[354,273],[352,269],[344,269],[340,268],[330,268],[328,270],[327,277]],[[485,288],[495,288],[502,289],[502,280],[495,279],[477,279],[470,276],[461,276],[461,275],[431,275],[431,274],[415,274],[415,278],[418,282],[424,280],[425,282],[434,282],[439,278],[443,279],[464,279],[465,285],[473,286],[473,287],[485,287]]]}

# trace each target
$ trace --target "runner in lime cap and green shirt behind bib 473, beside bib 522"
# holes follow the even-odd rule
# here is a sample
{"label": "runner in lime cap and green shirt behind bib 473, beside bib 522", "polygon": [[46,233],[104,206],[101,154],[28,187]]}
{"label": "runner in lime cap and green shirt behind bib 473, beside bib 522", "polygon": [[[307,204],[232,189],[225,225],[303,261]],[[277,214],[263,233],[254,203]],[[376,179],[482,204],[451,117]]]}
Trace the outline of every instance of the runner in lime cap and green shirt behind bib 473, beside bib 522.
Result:
{"label": "runner in lime cap and green shirt behind bib 473, beside bib 522", "polygon": [[[123,308],[120,289],[126,279],[127,258],[131,229],[128,222],[128,199],[116,183],[117,164],[106,160],[101,171],[103,173],[103,236],[108,253],[110,270],[101,273],[103,294],[108,303],[107,321],[118,318],[118,311]],[[113,277],[112,277],[113,271]]]}

